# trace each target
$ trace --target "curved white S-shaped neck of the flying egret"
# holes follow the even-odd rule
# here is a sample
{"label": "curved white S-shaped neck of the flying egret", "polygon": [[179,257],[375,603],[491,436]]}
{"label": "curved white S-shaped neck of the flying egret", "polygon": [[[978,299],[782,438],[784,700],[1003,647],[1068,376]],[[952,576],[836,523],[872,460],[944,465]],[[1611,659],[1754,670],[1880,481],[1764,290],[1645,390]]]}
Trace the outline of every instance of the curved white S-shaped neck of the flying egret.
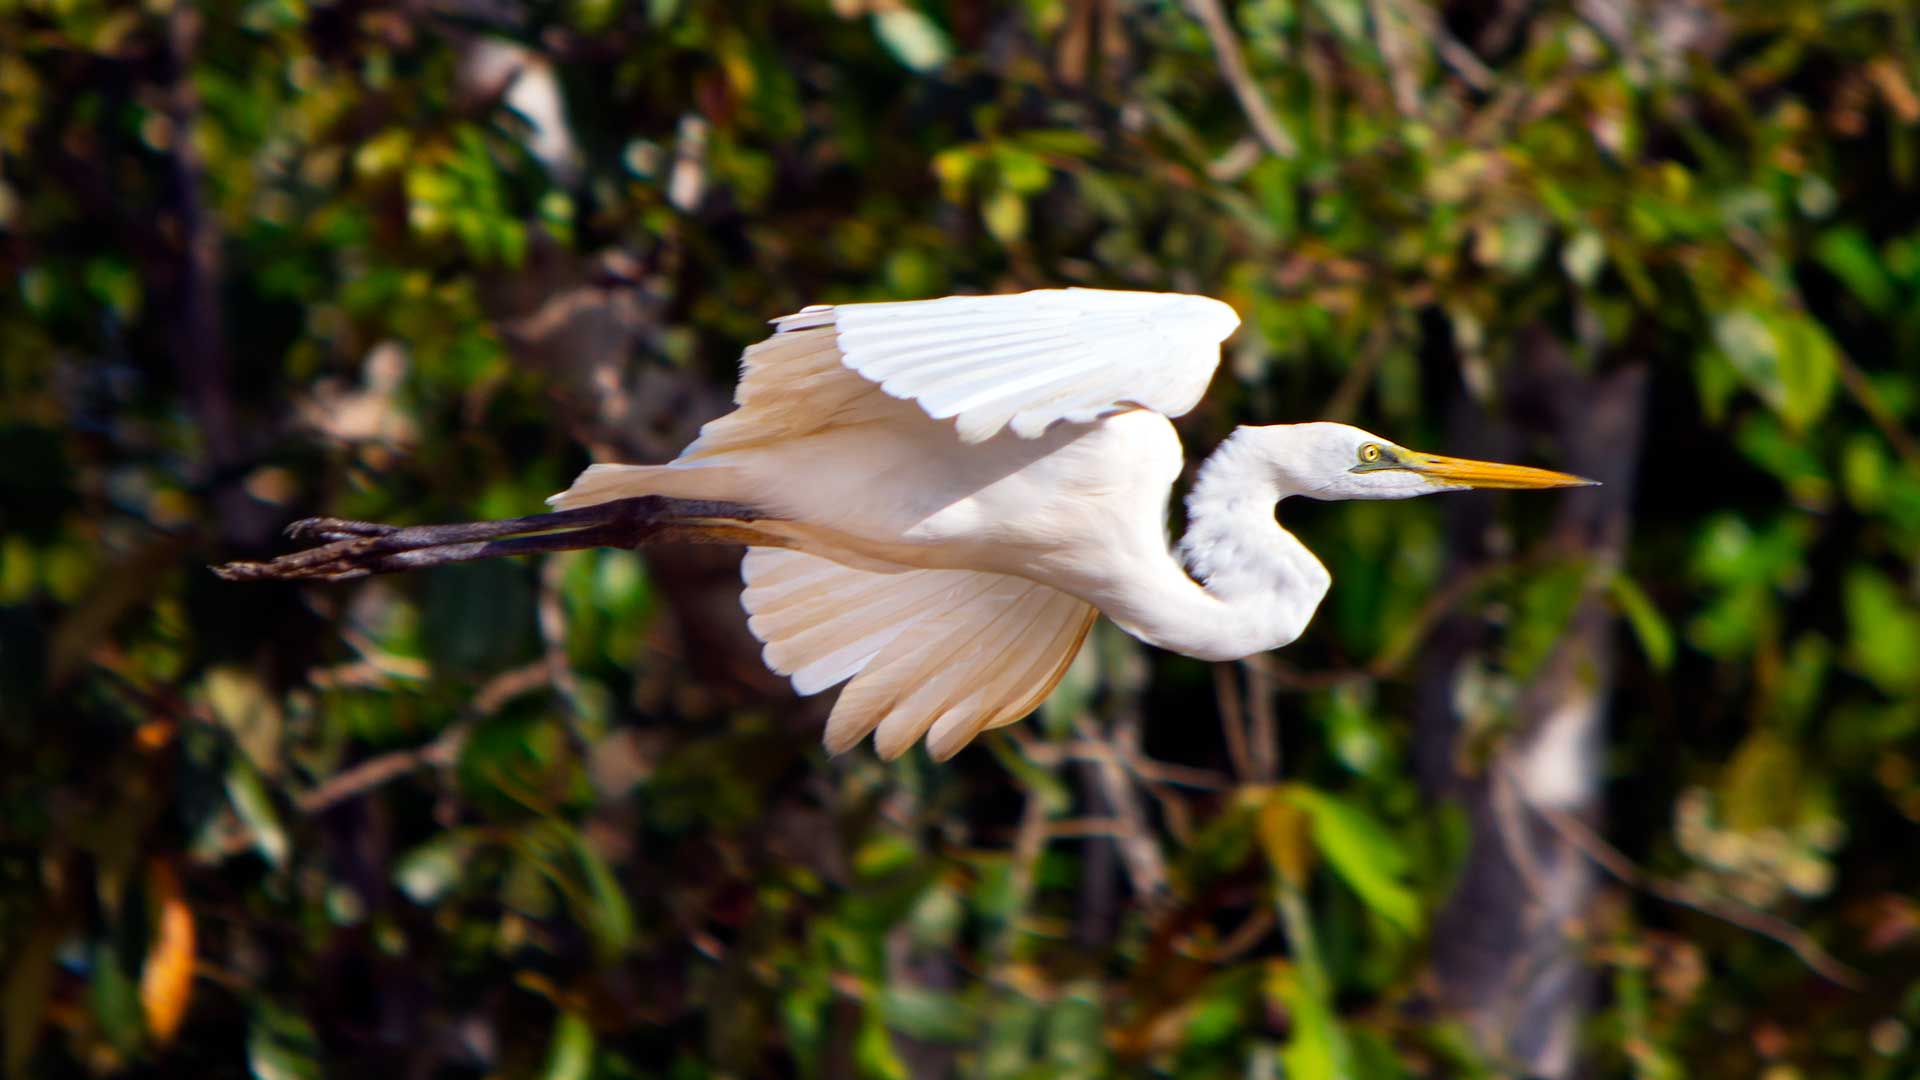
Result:
{"label": "curved white S-shaped neck of the flying egret", "polygon": [[1238,659],[1292,642],[1332,578],[1273,519],[1275,503],[1290,494],[1252,432],[1235,432],[1200,465],[1175,552],[1156,573],[1114,582],[1100,609],[1133,636],[1200,659]]}

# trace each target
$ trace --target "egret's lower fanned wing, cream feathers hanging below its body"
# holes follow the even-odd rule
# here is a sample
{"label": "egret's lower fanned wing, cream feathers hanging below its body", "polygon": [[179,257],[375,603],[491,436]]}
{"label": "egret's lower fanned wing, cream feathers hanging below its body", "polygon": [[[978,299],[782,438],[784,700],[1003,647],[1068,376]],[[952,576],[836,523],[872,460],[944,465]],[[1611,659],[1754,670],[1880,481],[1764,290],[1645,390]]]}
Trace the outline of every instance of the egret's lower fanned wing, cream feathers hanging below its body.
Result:
{"label": "egret's lower fanned wing, cream feathers hanging below its body", "polygon": [[783,548],[741,563],[766,665],[816,694],[852,678],[828,719],[839,753],[874,732],[881,757],[922,736],[935,759],[1031,713],[1066,675],[1096,611],[1025,578],[856,571]]}

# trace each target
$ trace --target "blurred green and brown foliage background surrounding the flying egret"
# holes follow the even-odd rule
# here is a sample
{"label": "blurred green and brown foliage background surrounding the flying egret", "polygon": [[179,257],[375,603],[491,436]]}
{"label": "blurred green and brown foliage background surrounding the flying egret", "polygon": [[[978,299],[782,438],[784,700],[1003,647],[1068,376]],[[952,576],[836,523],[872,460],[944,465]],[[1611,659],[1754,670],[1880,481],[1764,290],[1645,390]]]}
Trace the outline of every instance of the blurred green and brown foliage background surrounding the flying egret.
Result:
{"label": "blurred green and brown foliage background surrounding the flying egret", "polygon": [[[8,1076],[1920,1072],[1910,0],[0,4]],[[664,459],[804,304],[1179,288],[1284,505],[945,767],[737,553],[236,586]],[[1175,511],[1177,513],[1177,511]]]}

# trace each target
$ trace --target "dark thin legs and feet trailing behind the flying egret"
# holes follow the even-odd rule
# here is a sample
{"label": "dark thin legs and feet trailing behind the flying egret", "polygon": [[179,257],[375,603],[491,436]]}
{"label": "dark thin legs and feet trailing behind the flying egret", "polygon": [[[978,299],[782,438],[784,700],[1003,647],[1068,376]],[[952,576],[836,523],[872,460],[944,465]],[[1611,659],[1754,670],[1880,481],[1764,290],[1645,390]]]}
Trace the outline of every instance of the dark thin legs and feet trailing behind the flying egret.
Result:
{"label": "dark thin legs and feet trailing behind the flying egret", "polygon": [[666,496],[639,496],[505,521],[405,528],[376,521],[309,517],[290,525],[286,534],[317,542],[313,548],[267,563],[223,563],[213,567],[213,573],[227,580],[349,580],[536,552],[645,544],[778,544],[778,538],[747,528],[747,523],[764,517],[741,503]]}

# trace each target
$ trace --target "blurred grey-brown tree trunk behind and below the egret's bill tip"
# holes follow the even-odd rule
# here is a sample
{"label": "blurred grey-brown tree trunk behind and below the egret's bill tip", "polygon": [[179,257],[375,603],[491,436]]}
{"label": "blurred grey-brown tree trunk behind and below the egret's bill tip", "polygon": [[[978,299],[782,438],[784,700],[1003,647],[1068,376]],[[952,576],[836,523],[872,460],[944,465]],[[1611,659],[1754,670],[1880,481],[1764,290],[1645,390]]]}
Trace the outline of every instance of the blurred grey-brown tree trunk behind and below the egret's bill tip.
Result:
{"label": "blurred grey-brown tree trunk behind and below the egret's bill tip", "polygon": [[[1563,496],[1549,536],[1553,559],[1584,559],[1586,594],[1551,655],[1521,688],[1511,732],[1486,753],[1467,746],[1455,690],[1463,665],[1494,644],[1488,625],[1453,617],[1432,636],[1421,671],[1417,759],[1434,799],[1453,799],[1473,824],[1459,886],[1434,926],[1438,995],[1503,1068],[1565,1078],[1580,1070],[1578,1034],[1596,978],[1569,936],[1594,901],[1596,869],[1559,842],[1530,807],[1601,815],[1601,761],[1613,669],[1607,575],[1626,548],[1642,444],[1645,373],[1588,375],[1544,329],[1521,342],[1503,417],[1461,404],[1453,450],[1475,457],[1524,454],[1528,436],[1567,448],[1565,467],[1601,480]],[[1492,557],[1492,500],[1459,500],[1450,521],[1455,571]]]}

